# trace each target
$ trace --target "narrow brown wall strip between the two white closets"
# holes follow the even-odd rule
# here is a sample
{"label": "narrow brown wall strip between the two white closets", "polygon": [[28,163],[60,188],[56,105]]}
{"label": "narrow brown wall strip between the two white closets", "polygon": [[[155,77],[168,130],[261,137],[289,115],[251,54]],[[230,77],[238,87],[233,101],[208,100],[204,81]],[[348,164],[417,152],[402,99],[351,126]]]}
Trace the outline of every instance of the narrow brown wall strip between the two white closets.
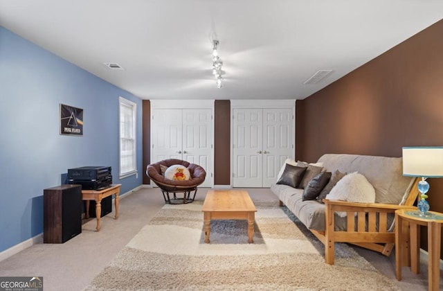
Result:
{"label": "narrow brown wall strip between the two white closets", "polygon": [[230,100],[215,100],[214,184],[230,184]]}

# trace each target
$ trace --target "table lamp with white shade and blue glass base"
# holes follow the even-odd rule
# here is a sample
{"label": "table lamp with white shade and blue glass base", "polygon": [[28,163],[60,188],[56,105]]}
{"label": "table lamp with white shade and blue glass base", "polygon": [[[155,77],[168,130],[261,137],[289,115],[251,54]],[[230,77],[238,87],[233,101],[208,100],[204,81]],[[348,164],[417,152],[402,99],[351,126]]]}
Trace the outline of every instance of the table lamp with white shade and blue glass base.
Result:
{"label": "table lamp with white shade and blue glass base", "polygon": [[403,148],[403,175],[409,177],[422,177],[418,183],[420,200],[417,203],[419,211],[414,213],[420,217],[431,216],[428,213],[429,203],[426,200],[429,190],[427,178],[443,177],[443,146],[423,146]]}

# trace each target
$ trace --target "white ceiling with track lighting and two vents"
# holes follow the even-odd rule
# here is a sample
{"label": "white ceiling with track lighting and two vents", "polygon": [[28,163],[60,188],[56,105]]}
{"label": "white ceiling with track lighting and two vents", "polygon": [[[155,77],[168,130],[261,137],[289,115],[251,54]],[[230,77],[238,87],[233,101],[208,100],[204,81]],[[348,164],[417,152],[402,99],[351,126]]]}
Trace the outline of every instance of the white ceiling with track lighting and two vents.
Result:
{"label": "white ceiling with track lighting and two vents", "polygon": [[143,99],[303,99],[442,18],[442,0],[0,0],[1,26]]}

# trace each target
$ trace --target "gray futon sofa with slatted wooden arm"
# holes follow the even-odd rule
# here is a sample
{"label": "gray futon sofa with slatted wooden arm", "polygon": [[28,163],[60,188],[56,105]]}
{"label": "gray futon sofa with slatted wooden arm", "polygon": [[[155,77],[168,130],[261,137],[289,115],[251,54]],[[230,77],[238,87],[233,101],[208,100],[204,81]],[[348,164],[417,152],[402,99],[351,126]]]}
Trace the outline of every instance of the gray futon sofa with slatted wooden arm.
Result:
{"label": "gray futon sofa with slatted wooden arm", "polygon": [[[397,157],[374,157],[365,155],[337,155],[327,154],[318,159],[317,163],[323,164],[323,170],[334,173],[336,170],[342,173],[358,172],[363,174],[368,182],[374,186],[375,203],[364,204],[362,209],[359,209],[359,203],[352,202],[334,202],[332,200],[323,200],[325,204],[317,200],[302,201],[303,189],[293,188],[291,186],[282,184],[271,185],[271,191],[278,196],[280,204],[284,204],[292,211],[297,218],[305,224],[307,229],[311,230],[324,244],[326,251],[332,247],[332,258],[326,258],[327,263],[334,263],[334,241],[345,241],[362,245],[370,249],[382,252],[386,255],[390,254],[390,249],[395,242],[395,236],[381,235],[380,232],[390,232],[393,229],[394,211],[397,208],[402,208],[400,205],[407,205],[411,207],[417,197],[417,191],[413,191],[415,186],[415,178],[404,177],[402,175],[402,161]],[[333,207],[337,208],[334,209]],[[398,207],[397,207],[398,206]],[[334,215],[328,216],[329,211]],[[348,208],[346,208],[348,207]],[[388,209],[388,210],[386,210]],[[341,218],[336,214],[336,211],[349,211],[347,217]],[[368,213],[375,211],[383,213],[381,216],[377,214],[377,222],[364,222],[365,229],[357,229],[359,225],[357,221],[352,222],[349,217],[357,219],[357,212],[364,212],[363,216],[368,217]],[[386,213],[386,216],[384,216]],[[328,218],[329,217],[329,222]],[[379,217],[379,218],[378,218]],[[383,220],[381,220],[383,217]],[[385,218],[386,217],[386,218]],[[386,227],[380,227],[380,221],[387,221]],[[328,228],[331,224],[334,227]],[[370,224],[377,223],[377,231],[374,231]],[[347,229],[347,225],[354,224],[352,229]],[[337,231],[342,232],[361,232],[361,236],[356,236],[355,233],[349,238],[345,236],[338,236]],[[378,235],[380,234],[380,235]],[[378,237],[378,238],[377,238]],[[382,238],[383,237],[383,238]],[[381,240],[381,241],[378,241]],[[370,247],[367,243],[389,243],[390,247],[379,248],[377,246]]]}

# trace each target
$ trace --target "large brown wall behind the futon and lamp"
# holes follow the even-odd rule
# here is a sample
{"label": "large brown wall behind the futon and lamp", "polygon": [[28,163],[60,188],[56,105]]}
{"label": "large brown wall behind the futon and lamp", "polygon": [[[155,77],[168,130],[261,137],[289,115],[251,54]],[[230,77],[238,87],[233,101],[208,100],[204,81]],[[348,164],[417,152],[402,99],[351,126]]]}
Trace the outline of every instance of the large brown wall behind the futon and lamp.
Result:
{"label": "large brown wall behind the futon and lamp", "polygon": [[[298,100],[298,159],[316,161],[324,153],[401,157],[403,146],[443,145],[442,35],[443,20]],[[443,179],[429,184],[431,210],[443,212]],[[426,244],[422,231],[422,248]]]}

